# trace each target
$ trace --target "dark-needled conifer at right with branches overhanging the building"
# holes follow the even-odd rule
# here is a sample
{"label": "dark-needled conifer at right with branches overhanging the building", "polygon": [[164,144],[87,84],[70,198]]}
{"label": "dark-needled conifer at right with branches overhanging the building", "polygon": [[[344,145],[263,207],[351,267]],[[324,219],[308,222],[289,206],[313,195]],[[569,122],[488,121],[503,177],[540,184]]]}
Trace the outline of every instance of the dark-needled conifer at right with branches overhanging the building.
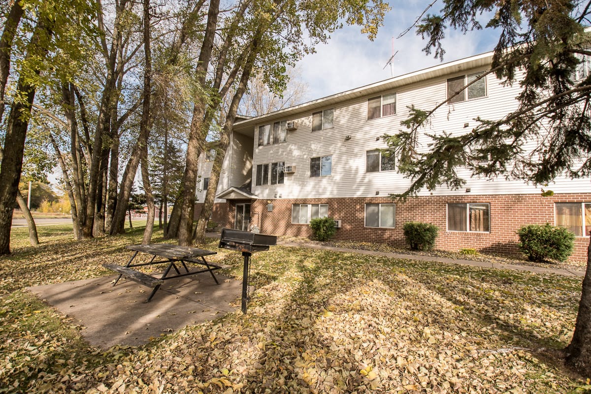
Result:
{"label": "dark-needled conifer at right with branches overhanging the building", "polygon": [[[404,199],[441,184],[460,188],[465,180],[456,170],[466,167],[474,175],[501,175],[540,185],[563,174],[589,177],[591,74],[581,71],[591,56],[591,36],[583,28],[591,3],[447,0],[439,13],[426,12],[417,22],[417,34],[427,40],[424,51],[434,51],[439,58],[448,25],[467,32],[482,28],[479,15],[494,15],[486,28],[496,29],[499,40],[488,73],[522,89],[518,108],[502,119],[477,118],[475,128],[460,134],[427,134],[432,140],[429,151],[420,148],[417,138],[444,103],[427,110],[411,106],[409,118],[402,122],[406,128],[387,137],[397,151],[399,172],[411,179],[408,190],[392,197]],[[525,143],[531,141],[537,145],[526,150]],[[484,158],[488,164],[475,164]],[[564,357],[591,376],[591,242],[576,327]]]}

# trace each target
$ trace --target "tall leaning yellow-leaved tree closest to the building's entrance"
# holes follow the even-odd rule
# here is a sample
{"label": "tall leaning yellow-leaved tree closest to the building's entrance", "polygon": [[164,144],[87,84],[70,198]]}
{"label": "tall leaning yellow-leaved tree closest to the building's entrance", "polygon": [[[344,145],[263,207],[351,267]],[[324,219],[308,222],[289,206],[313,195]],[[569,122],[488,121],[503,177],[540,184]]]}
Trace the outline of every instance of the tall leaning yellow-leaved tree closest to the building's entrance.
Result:
{"label": "tall leaning yellow-leaved tree closest to the building's entrance", "polygon": [[[299,58],[313,51],[314,45],[326,42],[329,38],[328,34],[340,28],[343,21],[351,25],[361,25],[362,32],[368,33],[368,37],[372,39],[388,9],[388,5],[379,0],[372,2],[335,0],[322,7],[292,0],[254,2],[236,12],[236,18],[230,20],[228,28],[225,29],[228,35],[221,41],[216,51],[213,86],[206,90],[212,92],[209,103],[213,105],[203,113],[206,122],[202,122],[199,118],[199,124],[196,126],[201,128],[202,132],[209,129],[208,126],[214,119],[214,114],[217,113],[219,103],[223,102],[230,88],[232,88],[232,98],[229,100],[225,114],[220,116],[222,132],[220,144],[216,148],[209,188],[196,231],[191,232],[189,239],[187,239],[187,232],[193,224],[196,172],[186,177],[186,183],[183,185],[183,209],[181,209],[178,232],[180,244],[190,245],[193,239],[197,242],[203,240],[207,218],[213,207],[221,162],[229,145],[238,105],[246,91],[251,74],[260,73],[273,92],[282,92],[287,83],[286,68],[293,67]],[[239,31],[247,33],[239,35]],[[304,38],[306,35],[307,38]],[[238,53],[232,48],[236,41],[241,48]],[[202,141],[196,144],[198,149],[194,151],[194,155],[189,154],[187,150],[187,168],[189,168],[189,162],[194,161],[191,165],[196,170],[196,161],[203,151],[204,142],[202,135]],[[189,175],[189,172],[186,171],[186,175]],[[188,187],[191,187],[190,193]]]}

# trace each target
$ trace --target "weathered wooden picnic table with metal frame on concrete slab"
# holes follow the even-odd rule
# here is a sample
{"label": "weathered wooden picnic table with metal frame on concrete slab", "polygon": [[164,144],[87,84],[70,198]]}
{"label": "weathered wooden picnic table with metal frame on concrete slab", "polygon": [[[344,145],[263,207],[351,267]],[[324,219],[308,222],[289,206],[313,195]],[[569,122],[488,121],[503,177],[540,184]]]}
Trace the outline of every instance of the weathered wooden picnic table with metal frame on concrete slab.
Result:
{"label": "weathered wooden picnic table with metal frame on concrete slab", "polygon": [[[168,279],[180,278],[181,276],[197,275],[197,273],[209,272],[212,275],[213,280],[219,285],[216,276],[213,271],[216,269],[227,268],[228,266],[222,264],[213,264],[207,262],[205,256],[216,255],[217,252],[212,252],[205,249],[189,248],[189,246],[178,246],[171,245],[170,243],[154,243],[150,245],[128,245],[125,249],[133,250],[134,254],[125,266],[118,264],[103,264],[105,268],[111,269],[112,271],[119,272],[119,276],[113,282],[113,286],[119,282],[122,276],[131,279],[132,281],[138,282],[142,285],[153,288],[150,296],[144,302],[150,302],[154,294],[160,288],[160,285]],[[151,255],[152,258],[149,262],[134,263],[134,259],[138,253],[146,253]],[[164,260],[155,261],[156,258],[163,258]],[[164,269],[164,273],[160,278],[148,275],[147,273],[135,270],[135,267],[146,266],[146,265],[157,265],[167,263],[167,267]],[[200,266],[204,266],[203,269],[197,269],[196,271],[189,271],[187,263],[192,263]],[[181,272],[180,268],[184,269]],[[170,275],[174,269],[176,275]]]}

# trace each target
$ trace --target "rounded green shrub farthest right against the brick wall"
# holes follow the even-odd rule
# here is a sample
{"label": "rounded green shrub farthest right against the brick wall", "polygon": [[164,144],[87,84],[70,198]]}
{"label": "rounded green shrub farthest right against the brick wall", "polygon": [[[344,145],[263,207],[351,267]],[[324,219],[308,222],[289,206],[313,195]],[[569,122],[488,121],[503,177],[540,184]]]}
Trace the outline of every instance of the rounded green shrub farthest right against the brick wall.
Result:
{"label": "rounded green shrub farthest right against the brick wall", "polygon": [[519,249],[530,261],[566,261],[574,248],[574,233],[551,224],[528,224],[517,230]]}

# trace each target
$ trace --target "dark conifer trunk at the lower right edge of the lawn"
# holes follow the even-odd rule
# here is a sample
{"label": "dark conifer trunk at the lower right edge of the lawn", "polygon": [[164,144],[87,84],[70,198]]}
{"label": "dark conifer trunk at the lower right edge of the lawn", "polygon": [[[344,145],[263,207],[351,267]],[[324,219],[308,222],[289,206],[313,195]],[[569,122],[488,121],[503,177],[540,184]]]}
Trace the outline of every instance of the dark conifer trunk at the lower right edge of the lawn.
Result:
{"label": "dark conifer trunk at the lower right edge of the lawn", "polygon": [[573,339],[564,350],[567,364],[583,376],[591,377],[591,239],[587,246],[587,269],[583,278]]}

